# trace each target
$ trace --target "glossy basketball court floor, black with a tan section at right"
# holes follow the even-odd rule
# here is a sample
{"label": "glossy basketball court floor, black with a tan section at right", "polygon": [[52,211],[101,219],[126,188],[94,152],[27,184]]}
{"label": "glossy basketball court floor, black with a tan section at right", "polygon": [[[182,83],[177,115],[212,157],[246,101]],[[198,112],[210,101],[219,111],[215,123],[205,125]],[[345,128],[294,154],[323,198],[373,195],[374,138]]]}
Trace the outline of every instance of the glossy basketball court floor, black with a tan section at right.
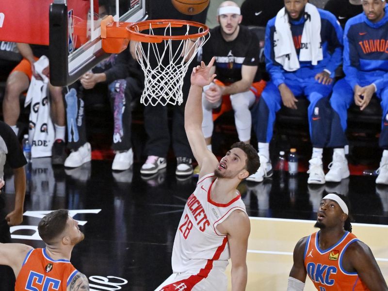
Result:
{"label": "glossy basketball court floor, black with a tan section at right", "polygon": [[[42,247],[36,233],[39,218],[50,210],[69,209],[85,233],[71,261],[89,278],[91,290],[152,291],[171,275],[175,232],[196,179],[177,179],[170,160],[166,170],[152,177],[141,177],[140,162],[124,172],[112,172],[111,164],[92,161],[64,169],[53,168],[50,159],[34,159],[27,173],[24,221],[11,227],[12,242]],[[12,171],[4,179],[3,217],[13,206]],[[286,290],[294,245],[316,231],[319,202],[330,191],[346,194],[356,222],[367,224],[355,224],[354,233],[381,259],[387,280],[388,187],[376,187],[373,177],[310,187],[306,173],[288,177],[275,172],[262,183],[243,182],[239,190],[252,226],[247,291]],[[11,290],[0,282],[0,291]],[[313,290],[308,280],[305,290]]]}

